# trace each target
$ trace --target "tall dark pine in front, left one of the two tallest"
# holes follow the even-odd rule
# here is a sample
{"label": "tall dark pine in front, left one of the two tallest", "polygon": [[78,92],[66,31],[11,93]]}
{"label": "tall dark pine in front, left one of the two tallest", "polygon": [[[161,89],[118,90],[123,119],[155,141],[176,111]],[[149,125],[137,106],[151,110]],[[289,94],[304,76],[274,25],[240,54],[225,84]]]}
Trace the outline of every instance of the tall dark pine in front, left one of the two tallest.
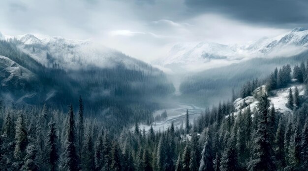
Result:
{"label": "tall dark pine in front, left one of the two tallest", "polygon": [[79,162],[77,157],[77,151],[75,147],[76,134],[75,134],[75,120],[73,106],[70,105],[69,118],[67,120],[66,126],[66,141],[64,149],[64,164],[63,167],[67,171],[77,171],[79,169]]}

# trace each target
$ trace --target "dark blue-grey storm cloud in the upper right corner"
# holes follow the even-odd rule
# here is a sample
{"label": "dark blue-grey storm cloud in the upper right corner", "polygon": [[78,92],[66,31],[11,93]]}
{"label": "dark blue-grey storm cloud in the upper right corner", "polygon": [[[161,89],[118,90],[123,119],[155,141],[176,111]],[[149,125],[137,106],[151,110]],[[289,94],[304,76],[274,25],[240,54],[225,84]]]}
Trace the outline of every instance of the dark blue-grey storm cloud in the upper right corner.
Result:
{"label": "dark blue-grey storm cloud in the upper right corner", "polygon": [[185,0],[185,4],[192,15],[218,13],[256,24],[308,25],[308,0]]}

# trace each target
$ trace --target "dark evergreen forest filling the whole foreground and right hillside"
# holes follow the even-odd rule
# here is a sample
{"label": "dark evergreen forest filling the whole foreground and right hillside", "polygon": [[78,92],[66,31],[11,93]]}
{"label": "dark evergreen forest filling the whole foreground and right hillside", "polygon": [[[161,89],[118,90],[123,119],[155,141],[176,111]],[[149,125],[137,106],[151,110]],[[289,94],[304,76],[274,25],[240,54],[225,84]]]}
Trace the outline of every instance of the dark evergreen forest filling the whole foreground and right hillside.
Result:
{"label": "dark evergreen forest filling the whole foreground and right hillside", "polygon": [[[133,131],[124,127],[121,134],[114,133],[104,122],[84,115],[91,109],[82,98],[78,112],[72,105],[62,112],[47,105],[1,104],[0,167],[14,171],[305,171],[307,72],[304,63],[293,70],[283,66],[253,87],[245,84],[239,95],[234,94],[234,103],[202,111],[192,125],[187,110],[186,124],[172,124],[158,132],[152,127],[142,131],[137,122]],[[304,93],[294,85],[304,87],[300,89]],[[277,93],[281,89],[289,90],[287,97]],[[244,100],[248,97],[255,101]],[[284,105],[290,112],[281,111],[274,98],[280,102],[286,98]]]}

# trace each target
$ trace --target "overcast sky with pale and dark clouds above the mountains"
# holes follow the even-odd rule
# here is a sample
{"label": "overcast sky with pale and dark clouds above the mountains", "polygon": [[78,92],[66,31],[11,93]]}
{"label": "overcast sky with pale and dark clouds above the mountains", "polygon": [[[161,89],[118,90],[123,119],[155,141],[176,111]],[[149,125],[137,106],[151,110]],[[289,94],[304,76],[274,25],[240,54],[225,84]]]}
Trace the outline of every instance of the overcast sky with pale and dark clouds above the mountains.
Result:
{"label": "overcast sky with pale and dark clouds above the mountains", "polygon": [[308,26],[308,0],[1,0],[0,32],[103,45],[151,61],[177,42],[242,43]]}

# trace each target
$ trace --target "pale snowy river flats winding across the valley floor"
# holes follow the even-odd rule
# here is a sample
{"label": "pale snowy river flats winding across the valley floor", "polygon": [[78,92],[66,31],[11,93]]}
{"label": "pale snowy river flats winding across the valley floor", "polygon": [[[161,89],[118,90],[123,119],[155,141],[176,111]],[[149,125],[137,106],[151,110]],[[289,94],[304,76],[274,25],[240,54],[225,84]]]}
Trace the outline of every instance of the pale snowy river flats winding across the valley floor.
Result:
{"label": "pale snowy river flats winding across the valley floor", "polygon": [[[188,109],[189,123],[192,124],[194,119],[198,119],[198,117],[200,116],[201,110],[204,110],[205,108],[200,108],[194,105],[178,104],[178,107],[175,108],[157,110],[153,113],[154,117],[160,115],[165,110],[167,111],[168,117],[164,121],[153,122],[152,126],[154,131],[167,130],[172,122],[175,127],[180,128],[182,124],[183,127],[185,127],[186,109]],[[151,128],[151,125],[146,125],[146,124],[139,125],[140,130],[143,130],[143,128],[145,128],[146,132],[148,132],[149,129]],[[134,128],[132,128],[132,130],[133,129]]]}

